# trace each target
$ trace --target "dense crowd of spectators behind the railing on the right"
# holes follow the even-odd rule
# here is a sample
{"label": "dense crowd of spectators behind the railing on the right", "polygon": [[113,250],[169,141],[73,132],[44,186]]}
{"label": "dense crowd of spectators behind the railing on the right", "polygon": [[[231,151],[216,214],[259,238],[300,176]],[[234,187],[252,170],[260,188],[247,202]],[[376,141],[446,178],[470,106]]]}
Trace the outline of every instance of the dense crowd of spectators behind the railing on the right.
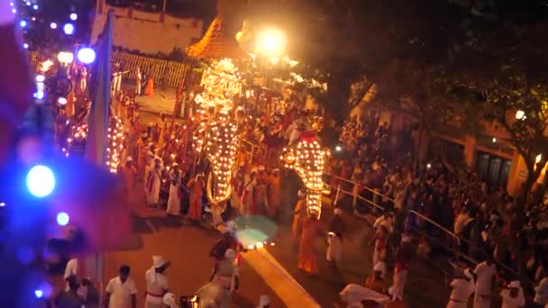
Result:
{"label": "dense crowd of spectators behind the railing on the right", "polygon": [[[398,132],[391,131],[387,122],[377,126],[378,122],[373,116],[372,121],[354,118],[345,123],[340,142],[355,159],[332,162],[332,173],[352,181],[354,195],[362,198],[354,208],[370,210],[361,200],[373,202],[379,205],[373,211],[384,212],[380,219],[389,222],[386,229],[378,231],[377,241],[383,243],[375,245],[374,264],[383,259],[384,247],[390,244],[388,234],[397,234],[402,241],[415,237],[418,252],[425,257],[443,250],[444,258],[447,254],[450,258],[463,257],[465,261],[458,264],[472,268],[476,260],[485,260],[471,272],[457,270],[448,306],[466,306],[468,297],[475,294],[474,307],[489,307],[491,278],[495,275],[498,285],[507,285],[501,293],[503,307],[525,306],[524,294],[531,294],[527,303],[546,304],[548,211],[543,200],[533,193],[525,206],[519,207],[504,188],[489,187],[460,161],[443,159],[443,153],[433,156],[423,168],[413,168],[406,151],[400,157],[388,153],[393,149],[388,145],[390,134]],[[409,131],[407,134],[410,137]],[[332,184],[341,181],[333,177]],[[521,215],[523,221],[516,229],[512,224],[516,223],[518,208],[525,209],[525,215]],[[447,242],[457,247],[452,249]],[[463,288],[470,292],[463,292]]]}

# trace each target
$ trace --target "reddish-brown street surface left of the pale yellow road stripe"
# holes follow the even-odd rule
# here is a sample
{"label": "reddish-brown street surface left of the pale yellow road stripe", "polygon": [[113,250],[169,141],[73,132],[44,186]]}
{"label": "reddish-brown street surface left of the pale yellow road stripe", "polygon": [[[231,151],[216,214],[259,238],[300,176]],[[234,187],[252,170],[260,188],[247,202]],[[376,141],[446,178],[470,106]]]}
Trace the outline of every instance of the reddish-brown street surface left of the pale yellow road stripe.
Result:
{"label": "reddish-brown street surface left of the pale yellow road stripe", "polygon": [[[144,272],[151,267],[152,255],[162,255],[173,263],[168,270],[170,291],[178,296],[194,294],[209,278],[212,260],[208,253],[220,233],[196,226],[184,226],[181,219],[166,217],[163,211],[144,205],[132,206],[132,238],[123,249],[105,255],[105,277],[116,276],[120,265],[129,265],[140,294],[139,306],[142,306]],[[256,307],[260,294],[269,294],[272,306],[283,306],[264,280],[244,261],[241,289],[233,296],[233,307]]]}

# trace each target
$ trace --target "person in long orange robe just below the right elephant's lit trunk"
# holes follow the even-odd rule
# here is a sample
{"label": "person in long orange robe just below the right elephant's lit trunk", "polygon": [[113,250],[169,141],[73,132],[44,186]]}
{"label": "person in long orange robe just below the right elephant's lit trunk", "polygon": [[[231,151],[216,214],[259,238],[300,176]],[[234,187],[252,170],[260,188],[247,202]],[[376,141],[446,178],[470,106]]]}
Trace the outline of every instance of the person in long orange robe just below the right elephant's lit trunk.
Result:
{"label": "person in long orange robe just below the right elephant's lit trunk", "polygon": [[324,233],[322,224],[316,217],[308,217],[303,225],[303,233],[298,247],[298,269],[310,275],[317,274],[315,259],[315,239]]}

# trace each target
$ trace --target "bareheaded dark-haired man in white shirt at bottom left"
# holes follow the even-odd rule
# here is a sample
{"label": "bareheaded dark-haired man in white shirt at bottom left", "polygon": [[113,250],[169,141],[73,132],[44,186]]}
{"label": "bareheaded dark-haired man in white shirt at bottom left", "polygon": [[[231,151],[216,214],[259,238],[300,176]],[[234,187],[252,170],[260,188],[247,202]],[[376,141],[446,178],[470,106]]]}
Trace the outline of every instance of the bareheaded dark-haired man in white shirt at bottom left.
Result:
{"label": "bareheaded dark-haired man in white shirt at bottom left", "polygon": [[130,277],[130,267],[123,265],[119,274],[106,285],[106,307],[137,308],[137,287]]}

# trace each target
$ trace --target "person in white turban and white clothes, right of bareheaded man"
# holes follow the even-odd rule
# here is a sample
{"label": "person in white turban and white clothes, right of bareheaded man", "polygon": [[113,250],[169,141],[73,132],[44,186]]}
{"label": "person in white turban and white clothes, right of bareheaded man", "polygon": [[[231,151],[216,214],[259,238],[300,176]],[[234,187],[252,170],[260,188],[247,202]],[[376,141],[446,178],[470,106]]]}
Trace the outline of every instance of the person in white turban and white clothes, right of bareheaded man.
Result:
{"label": "person in white turban and white clothes, right of bareheaded man", "polygon": [[165,308],[163,298],[168,293],[168,277],[164,273],[169,265],[169,261],[161,256],[152,257],[152,267],[144,275],[147,282],[145,308]]}

